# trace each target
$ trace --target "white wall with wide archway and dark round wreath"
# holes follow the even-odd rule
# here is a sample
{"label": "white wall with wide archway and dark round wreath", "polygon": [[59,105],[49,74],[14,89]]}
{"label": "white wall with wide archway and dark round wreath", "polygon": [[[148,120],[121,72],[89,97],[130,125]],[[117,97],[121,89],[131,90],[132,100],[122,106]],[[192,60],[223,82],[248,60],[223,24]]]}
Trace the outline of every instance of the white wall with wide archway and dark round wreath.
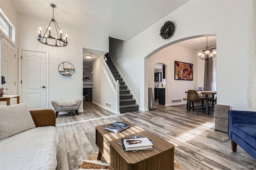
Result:
{"label": "white wall with wide archway and dark round wreath", "polygon": [[[209,9],[214,9],[215,12],[209,12]],[[166,20],[173,21],[176,30],[171,38],[163,40],[159,36],[159,30]],[[148,66],[145,64],[148,62],[144,58],[180,39],[216,34],[218,104],[244,110],[248,89],[251,29],[251,0],[191,0],[128,42],[112,43],[118,49],[116,55],[111,57],[139,99],[140,109],[146,110]]]}

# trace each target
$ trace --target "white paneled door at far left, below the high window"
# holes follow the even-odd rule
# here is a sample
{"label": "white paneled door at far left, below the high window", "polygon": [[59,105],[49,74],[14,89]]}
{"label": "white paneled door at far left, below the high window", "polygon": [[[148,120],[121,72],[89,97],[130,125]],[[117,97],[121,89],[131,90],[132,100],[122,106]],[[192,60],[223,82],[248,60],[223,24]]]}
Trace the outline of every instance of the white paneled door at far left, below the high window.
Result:
{"label": "white paneled door at far left, below the high window", "polygon": [[0,86],[7,88],[4,95],[16,95],[15,47],[5,36],[1,36],[1,76],[4,76],[6,81]]}

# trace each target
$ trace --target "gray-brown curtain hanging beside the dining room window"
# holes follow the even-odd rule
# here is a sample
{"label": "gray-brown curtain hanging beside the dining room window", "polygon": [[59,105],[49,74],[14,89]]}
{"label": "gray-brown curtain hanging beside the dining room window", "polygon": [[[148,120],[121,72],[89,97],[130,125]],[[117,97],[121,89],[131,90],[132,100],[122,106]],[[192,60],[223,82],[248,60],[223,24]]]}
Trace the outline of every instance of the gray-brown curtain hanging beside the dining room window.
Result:
{"label": "gray-brown curtain hanging beside the dining room window", "polygon": [[205,60],[204,63],[204,91],[212,91],[212,59]]}

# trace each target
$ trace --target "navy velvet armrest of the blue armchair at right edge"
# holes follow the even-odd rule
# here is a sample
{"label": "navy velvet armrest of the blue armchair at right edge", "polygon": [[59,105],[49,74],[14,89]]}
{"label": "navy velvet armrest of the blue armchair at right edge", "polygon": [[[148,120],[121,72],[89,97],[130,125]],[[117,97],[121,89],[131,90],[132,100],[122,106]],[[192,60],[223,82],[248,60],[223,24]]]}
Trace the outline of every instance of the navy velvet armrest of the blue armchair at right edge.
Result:
{"label": "navy velvet armrest of the blue armchair at right edge", "polygon": [[253,111],[228,111],[228,137],[231,138],[233,124],[256,125],[256,112]]}

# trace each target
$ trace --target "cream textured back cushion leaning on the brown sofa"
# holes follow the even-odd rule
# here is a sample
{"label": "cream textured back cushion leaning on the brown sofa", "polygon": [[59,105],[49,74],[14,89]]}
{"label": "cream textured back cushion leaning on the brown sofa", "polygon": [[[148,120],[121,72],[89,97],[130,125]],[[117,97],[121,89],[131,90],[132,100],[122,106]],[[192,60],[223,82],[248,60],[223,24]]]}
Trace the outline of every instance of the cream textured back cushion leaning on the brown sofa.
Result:
{"label": "cream textured back cushion leaning on the brown sofa", "polygon": [[36,127],[26,103],[0,106],[0,118],[0,140]]}

